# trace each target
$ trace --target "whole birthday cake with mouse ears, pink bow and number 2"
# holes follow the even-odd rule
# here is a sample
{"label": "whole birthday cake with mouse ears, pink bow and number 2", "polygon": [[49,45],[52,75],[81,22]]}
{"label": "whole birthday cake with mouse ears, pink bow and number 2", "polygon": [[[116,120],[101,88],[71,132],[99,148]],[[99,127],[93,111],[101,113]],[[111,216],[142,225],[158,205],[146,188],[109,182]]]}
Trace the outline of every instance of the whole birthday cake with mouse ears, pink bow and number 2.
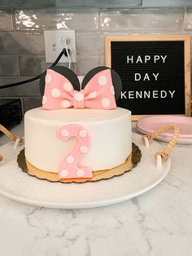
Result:
{"label": "whole birthday cake with mouse ears, pink bow and number 2", "polygon": [[31,166],[59,179],[92,179],[124,164],[132,153],[131,112],[116,107],[121,82],[114,70],[94,68],[80,84],[72,70],[55,67],[40,84],[42,107],[24,116]]}

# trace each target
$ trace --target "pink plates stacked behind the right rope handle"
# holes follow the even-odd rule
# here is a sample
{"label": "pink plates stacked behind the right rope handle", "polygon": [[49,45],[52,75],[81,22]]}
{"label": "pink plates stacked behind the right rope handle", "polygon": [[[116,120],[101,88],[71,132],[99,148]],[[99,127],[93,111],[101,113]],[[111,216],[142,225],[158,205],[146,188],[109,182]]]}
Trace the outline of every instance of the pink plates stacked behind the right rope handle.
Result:
{"label": "pink plates stacked behind the right rope handle", "polygon": [[[158,130],[162,126],[174,124],[180,127],[181,133],[178,139],[179,143],[192,143],[192,117],[177,117],[177,116],[154,116],[144,117],[137,121],[137,130],[142,133],[150,134]],[[168,130],[157,139],[168,141],[172,138],[172,130]]]}

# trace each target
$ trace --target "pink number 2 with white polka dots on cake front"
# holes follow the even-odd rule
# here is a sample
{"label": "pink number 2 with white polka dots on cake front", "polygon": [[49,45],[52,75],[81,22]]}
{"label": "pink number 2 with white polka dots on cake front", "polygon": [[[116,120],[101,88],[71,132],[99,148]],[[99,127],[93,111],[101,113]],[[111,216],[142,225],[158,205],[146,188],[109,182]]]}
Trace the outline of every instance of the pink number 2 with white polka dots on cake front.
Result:
{"label": "pink number 2 with white polka dots on cake front", "polygon": [[61,127],[57,133],[57,137],[64,141],[76,137],[77,143],[72,151],[61,161],[59,165],[60,179],[79,179],[92,178],[93,174],[90,167],[79,167],[79,162],[89,152],[90,136],[84,126],[67,125]]}

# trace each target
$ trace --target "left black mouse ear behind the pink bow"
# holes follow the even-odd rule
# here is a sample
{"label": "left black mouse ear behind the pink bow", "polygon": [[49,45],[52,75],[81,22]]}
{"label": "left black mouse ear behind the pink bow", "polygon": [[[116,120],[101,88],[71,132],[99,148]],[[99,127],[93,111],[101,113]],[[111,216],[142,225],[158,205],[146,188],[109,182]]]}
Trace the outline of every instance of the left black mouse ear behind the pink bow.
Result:
{"label": "left black mouse ear behind the pink bow", "polygon": [[[51,67],[50,69],[68,78],[68,81],[72,83],[73,88],[75,90],[80,90],[80,82],[76,77],[76,74],[72,71],[72,69],[69,69],[63,66],[54,66],[54,67]],[[39,80],[39,90],[41,92],[41,95],[44,95],[44,90],[46,85],[45,79],[46,79],[46,71],[41,74],[41,78]]]}

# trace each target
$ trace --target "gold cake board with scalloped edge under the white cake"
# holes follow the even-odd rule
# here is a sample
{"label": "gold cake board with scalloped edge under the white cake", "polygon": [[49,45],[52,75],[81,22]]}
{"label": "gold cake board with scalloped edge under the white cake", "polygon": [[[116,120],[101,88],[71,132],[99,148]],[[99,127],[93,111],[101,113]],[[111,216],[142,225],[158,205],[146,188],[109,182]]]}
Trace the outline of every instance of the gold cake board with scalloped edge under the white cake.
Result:
{"label": "gold cake board with scalloped edge under the white cake", "polygon": [[116,166],[110,170],[98,170],[93,172],[93,177],[91,179],[59,179],[58,173],[47,172],[44,170],[39,170],[32,164],[30,164],[25,156],[24,149],[20,151],[17,161],[20,168],[31,176],[35,176],[38,179],[46,179],[51,182],[61,182],[61,183],[85,183],[85,182],[95,182],[102,179],[111,179],[112,177],[119,176],[132,170],[134,166],[141,160],[142,153],[141,150],[133,143],[133,150],[129,157],[126,159],[124,164]]}

